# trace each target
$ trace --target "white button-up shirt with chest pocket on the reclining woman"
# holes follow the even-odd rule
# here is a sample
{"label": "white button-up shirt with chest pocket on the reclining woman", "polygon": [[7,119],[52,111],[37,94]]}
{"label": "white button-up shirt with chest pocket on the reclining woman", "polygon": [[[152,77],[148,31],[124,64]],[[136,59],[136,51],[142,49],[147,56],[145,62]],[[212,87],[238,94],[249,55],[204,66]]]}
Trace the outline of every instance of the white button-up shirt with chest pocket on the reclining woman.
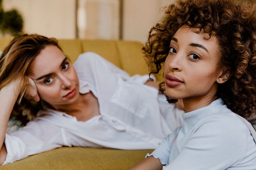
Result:
{"label": "white button-up shirt with chest pocket on the reclining woman", "polygon": [[92,91],[100,115],[77,121],[66,113],[44,108],[16,132],[6,133],[4,164],[62,146],[155,149],[182,125],[182,113],[144,83],[148,75],[130,77],[95,53],[83,53],[73,64],[80,93]]}

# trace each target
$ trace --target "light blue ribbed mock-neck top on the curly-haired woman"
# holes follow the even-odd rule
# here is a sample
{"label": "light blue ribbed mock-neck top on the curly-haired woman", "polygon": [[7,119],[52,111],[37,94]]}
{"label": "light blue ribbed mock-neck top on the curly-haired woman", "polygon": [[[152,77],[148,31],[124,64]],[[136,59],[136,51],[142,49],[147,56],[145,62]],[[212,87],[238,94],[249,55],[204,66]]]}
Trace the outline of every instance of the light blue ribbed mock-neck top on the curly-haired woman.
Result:
{"label": "light blue ribbed mock-neck top on the curly-haired woman", "polygon": [[147,155],[166,164],[163,169],[256,169],[256,143],[249,128],[221,99],[184,113],[183,119],[184,126]]}

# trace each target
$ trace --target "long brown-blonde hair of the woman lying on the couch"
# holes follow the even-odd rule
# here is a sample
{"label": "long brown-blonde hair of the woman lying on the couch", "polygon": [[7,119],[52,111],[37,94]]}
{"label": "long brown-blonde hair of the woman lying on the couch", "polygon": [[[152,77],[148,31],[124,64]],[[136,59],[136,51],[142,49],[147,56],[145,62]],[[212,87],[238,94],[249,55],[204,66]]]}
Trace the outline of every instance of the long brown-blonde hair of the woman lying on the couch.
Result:
{"label": "long brown-blonde hair of the woman lying on the couch", "polygon": [[0,57],[0,89],[12,81],[19,80],[19,97],[15,103],[12,115],[25,125],[28,119],[35,116],[41,109],[40,102],[23,98],[28,80],[28,68],[31,62],[47,45],[57,46],[55,38],[47,38],[38,34],[21,34],[8,44]]}

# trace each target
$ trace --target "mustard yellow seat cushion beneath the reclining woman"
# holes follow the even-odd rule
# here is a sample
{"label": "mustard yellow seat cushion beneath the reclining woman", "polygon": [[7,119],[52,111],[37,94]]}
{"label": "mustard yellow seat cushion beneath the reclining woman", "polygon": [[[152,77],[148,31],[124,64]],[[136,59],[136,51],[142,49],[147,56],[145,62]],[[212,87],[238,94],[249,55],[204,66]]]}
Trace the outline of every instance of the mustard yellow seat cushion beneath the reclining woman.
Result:
{"label": "mustard yellow seat cushion beneath the reclining woman", "polygon": [[152,150],[62,147],[1,166],[1,169],[129,169]]}

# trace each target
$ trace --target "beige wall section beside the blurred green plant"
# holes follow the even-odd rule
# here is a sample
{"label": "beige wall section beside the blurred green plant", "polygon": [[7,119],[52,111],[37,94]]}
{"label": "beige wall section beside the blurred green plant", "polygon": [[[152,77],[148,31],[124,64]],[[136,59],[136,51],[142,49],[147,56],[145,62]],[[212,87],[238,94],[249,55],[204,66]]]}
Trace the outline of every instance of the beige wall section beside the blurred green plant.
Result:
{"label": "beige wall section beside the blurred green plant", "polygon": [[4,10],[16,8],[24,18],[25,33],[75,38],[75,0],[3,0]]}

